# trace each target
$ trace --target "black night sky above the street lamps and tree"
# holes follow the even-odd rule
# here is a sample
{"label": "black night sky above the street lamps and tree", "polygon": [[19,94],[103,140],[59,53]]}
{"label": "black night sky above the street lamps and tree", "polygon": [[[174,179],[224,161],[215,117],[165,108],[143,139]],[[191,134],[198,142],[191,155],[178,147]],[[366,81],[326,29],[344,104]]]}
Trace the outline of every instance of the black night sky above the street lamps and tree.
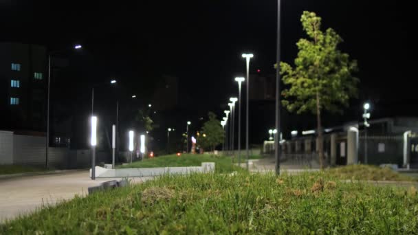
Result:
{"label": "black night sky above the street lamps and tree", "polygon": [[[303,10],[322,17],[358,60],[361,109],[370,100],[378,115],[418,115],[415,27],[399,1],[283,0],[282,58],[292,63],[304,36]],[[254,53],[251,70],[274,74],[276,1],[0,1],[0,41],[59,49],[81,43],[83,75],[91,82],[117,77],[142,92],[162,74],[179,78],[181,105],[221,111],[245,74],[242,52]],[[408,19],[410,17],[410,19]],[[409,32],[408,32],[409,30]],[[216,94],[214,96],[214,94]],[[406,104],[404,109],[401,104]],[[397,107],[397,109],[395,109]],[[402,108],[400,108],[402,107]],[[191,109],[193,111],[193,109]],[[273,115],[274,111],[272,111]]]}

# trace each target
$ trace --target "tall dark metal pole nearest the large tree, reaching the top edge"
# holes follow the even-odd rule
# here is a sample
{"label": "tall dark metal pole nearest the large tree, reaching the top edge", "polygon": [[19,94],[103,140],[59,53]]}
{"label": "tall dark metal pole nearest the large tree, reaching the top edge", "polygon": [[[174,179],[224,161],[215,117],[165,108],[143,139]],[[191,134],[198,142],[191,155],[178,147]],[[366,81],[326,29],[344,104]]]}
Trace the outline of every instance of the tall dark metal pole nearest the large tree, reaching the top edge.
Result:
{"label": "tall dark metal pole nearest the large tree, reaching the top edge", "polygon": [[280,175],[280,133],[281,129],[281,103],[280,103],[280,61],[281,61],[281,0],[277,0],[277,46],[276,46],[276,134],[274,134],[274,157],[276,158],[276,175]]}

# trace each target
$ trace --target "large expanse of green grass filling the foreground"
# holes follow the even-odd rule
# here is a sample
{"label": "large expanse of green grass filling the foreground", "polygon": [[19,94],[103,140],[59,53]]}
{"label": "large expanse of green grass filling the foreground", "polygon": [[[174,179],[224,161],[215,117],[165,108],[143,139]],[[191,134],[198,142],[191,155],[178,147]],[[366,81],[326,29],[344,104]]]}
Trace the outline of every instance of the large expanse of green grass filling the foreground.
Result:
{"label": "large expanse of green grass filling the foreground", "polygon": [[162,176],[76,197],[0,234],[416,234],[417,189],[342,183],[325,172]]}

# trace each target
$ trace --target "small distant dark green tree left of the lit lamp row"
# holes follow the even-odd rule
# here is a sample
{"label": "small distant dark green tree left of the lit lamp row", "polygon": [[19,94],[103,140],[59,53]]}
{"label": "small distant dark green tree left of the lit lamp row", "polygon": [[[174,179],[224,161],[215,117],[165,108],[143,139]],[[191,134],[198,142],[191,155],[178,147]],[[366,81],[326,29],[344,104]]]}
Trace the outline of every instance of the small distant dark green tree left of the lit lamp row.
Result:
{"label": "small distant dark green tree left of the lit lamp row", "polygon": [[217,120],[217,115],[208,113],[209,120],[203,124],[202,130],[197,137],[197,144],[203,149],[210,148],[212,151],[216,146],[223,143],[225,133],[221,122]]}

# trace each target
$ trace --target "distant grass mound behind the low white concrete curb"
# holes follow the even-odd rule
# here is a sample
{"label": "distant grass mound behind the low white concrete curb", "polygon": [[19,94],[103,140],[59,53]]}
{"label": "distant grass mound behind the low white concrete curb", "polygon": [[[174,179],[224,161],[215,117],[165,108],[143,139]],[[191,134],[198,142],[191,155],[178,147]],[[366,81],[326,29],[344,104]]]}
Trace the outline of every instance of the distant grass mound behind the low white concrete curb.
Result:
{"label": "distant grass mound behind the low white concrete curb", "polygon": [[166,155],[161,157],[154,157],[151,159],[144,159],[143,161],[136,161],[132,164],[118,166],[118,168],[151,168],[151,167],[166,167],[166,166],[201,166],[202,162],[214,162],[215,172],[232,172],[242,171],[242,168],[232,164],[231,157],[215,156],[215,155],[192,155],[182,154]]}

